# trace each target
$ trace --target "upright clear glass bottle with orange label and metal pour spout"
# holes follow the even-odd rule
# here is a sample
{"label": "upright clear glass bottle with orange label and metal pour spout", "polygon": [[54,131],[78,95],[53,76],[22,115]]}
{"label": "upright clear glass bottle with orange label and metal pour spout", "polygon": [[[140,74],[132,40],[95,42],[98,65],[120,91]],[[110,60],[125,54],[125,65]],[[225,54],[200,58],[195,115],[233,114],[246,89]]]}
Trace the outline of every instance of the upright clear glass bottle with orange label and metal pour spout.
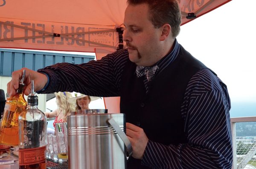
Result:
{"label": "upright clear glass bottle with orange label and metal pour spout", "polygon": [[32,80],[27,109],[19,116],[20,169],[46,169],[47,118],[37,106]]}

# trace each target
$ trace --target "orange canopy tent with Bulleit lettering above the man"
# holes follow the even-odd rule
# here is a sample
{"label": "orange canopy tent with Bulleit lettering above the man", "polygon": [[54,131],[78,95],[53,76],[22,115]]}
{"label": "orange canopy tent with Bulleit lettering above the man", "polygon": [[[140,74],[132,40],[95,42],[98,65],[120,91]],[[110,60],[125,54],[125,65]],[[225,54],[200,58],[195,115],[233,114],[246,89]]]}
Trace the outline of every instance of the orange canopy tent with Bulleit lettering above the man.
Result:
{"label": "orange canopy tent with Bulleit lettering above the man", "polygon": [[[178,0],[182,25],[229,1]],[[100,59],[122,48],[126,6],[126,0],[0,0],[0,48],[95,52]],[[105,104],[119,112],[113,99]]]}

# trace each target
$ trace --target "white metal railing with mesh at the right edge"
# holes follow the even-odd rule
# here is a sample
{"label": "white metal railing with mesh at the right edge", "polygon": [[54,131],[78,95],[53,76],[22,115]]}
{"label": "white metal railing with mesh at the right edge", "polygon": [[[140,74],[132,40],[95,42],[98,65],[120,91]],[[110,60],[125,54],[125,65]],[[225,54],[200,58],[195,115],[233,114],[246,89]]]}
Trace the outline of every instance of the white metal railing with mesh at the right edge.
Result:
{"label": "white metal railing with mesh at the right edge", "polygon": [[[256,116],[253,117],[233,117],[231,119],[232,141],[233,141],[233,166],[232,169],[256,169],[256,137],[236,137],[236,123],[256,122]],[[255,131],[256,132],[256,131]],[[241,144],[243,150],[237,149]],[[241,152],[242,151],[242,152]],[[238,154],[239,153],[239,154]],[[240,155],[241,154],[241,155]],[[255,166],[249,165],[252,160]]]}

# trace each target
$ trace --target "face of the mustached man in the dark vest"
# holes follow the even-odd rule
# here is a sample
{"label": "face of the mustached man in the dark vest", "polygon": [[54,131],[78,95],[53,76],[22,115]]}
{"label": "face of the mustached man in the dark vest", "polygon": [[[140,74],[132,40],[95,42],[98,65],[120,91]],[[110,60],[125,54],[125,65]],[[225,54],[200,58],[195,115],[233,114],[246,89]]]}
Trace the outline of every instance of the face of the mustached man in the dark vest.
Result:
{"label": "face of the mustached man in the dark vest", "polygon": [[126,42],[129,59],[141,66],[152,66],[160,60],[160,29],[148,20],[148,4],[128,5],[125,10],[123,39]]}

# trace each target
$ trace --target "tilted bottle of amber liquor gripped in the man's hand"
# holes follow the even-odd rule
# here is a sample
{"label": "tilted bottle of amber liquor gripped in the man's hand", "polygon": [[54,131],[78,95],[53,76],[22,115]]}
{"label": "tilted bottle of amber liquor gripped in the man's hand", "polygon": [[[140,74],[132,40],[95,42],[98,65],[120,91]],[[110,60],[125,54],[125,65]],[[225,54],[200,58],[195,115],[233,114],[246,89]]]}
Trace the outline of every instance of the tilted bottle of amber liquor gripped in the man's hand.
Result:
{"label": "tilted bottle of amber liquor gripped in the man's hand", "polygon": [[19,88],[13,97],[6,99],[5,108],[3,111],[3,119],[0,127],[0,143],[9,146],[18,146],[19,144],[19,128],[18,117],[21,112],[26,109],[27,102],[24,98],[23,83],[26,71],[23,70],[23,75],[19,83]]}

